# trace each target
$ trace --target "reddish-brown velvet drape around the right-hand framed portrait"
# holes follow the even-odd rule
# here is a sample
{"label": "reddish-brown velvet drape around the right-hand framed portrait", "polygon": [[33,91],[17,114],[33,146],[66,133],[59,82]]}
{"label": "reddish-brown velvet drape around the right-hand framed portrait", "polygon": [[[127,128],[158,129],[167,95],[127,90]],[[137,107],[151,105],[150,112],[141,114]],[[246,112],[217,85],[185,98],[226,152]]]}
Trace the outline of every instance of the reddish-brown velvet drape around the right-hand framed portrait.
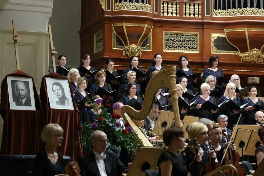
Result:
{"label": "reddish-brown velvet drape around the right-hand framed portrait", "polygon": [[51,109],[47,94],[47,86],[45,79],[46,77],[62,78],[62,79],[67,79],[67,78],[60,76],[58,73],[45,75],[42,78],[42,82],[41,82],[40,100],[44,112],[45,124],[56,123],[59,124],[64,130],[64,136],[63,136],[64,140],[62,142],[62,145],[58,147],[57,150],[61,152],[63,155],[70,156],[73,159],[73,161],[77,161],[77,158],[83,155],[83,151],[81,145],[75,145],[75,142],[80,140],[81,132],[77,130],[77,125],[80,124],[80,119],[79,119],[79,112],[77,111],[76,103],[74,102],[74,98],[73,98],[72,86],[68,81],[72,100],[73,100],[74,110]]}

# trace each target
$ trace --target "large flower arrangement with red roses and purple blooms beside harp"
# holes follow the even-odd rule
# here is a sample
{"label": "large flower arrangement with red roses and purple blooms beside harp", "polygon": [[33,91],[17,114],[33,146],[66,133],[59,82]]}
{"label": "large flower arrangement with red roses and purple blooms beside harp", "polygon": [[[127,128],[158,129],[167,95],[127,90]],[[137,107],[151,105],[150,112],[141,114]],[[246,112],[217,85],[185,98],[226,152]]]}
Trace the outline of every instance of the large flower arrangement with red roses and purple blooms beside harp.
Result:
{"label": "large flower arrangement with red roses and purple blooms beside harp", "polygon": [[[101,130],[107,134],[107,138],[109,140],[106,150],[117,152],[119,147],[125,147],[128,154],[133,156],[134,151],[138,150],[137,141],[140,140],[139,137],[136,135],[135,131],[128,122],[121,125],[121,123],[116,120],[121,118],[121,115],[115,113],[112,113],[111,115],[107,113],[107,109],[110,107],[110,103],[108,102],[109,97],[103,97],[103,99],[105,103],[101,105],[102,112],[97,115],[97,119],[92,123],[84,122],[84,124],[77,127],[77,129],[82,133],[81,141],[78,141],[77,143],[81,143],[85,147],[91,145],[91,134],[95,130]],[[101,99],[97,99],[95,103],[103,103],[103,101]],[[92,102],[90,102],[90,104],[92,104],[95,109],[95,104]],[[114,109],[120,109],[120,105],[118,103],[114,103],[112,107]]]}

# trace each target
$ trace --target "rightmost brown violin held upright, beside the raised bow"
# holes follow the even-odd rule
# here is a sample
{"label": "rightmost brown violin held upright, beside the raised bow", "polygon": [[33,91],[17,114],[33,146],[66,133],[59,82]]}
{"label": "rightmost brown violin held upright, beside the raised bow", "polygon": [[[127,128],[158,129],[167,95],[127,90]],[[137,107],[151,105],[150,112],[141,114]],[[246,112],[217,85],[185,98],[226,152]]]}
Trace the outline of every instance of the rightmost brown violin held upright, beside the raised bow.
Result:
{"label": "rightmost brown violin held upright, beside the raised bow", "polygon": [[[227,139],[227,142],[230,142],[231,141],[231,144],[232,143],[232,139],[231,139],[231,134],[225,134],[226,130],[223,129],[222,130],[222,134],[224,134],[225,138]],[[243,168],[239,165],[239,160],[240,160],[240,155],[238,152],[234,151],[234,150],[231,150],[230,149],[231,147],[229,147],[227,149],[227,153],[226,153],[226,156],[225,156],[225,164],[231,164],[233,166],[235,166],[235,168],[238,170],[238,173],[239,173],[239,176],[243,176],[244,175],[244,170]],[[225,152],[225,150],[224,150]],[[234,171],[230,172],[230,171],[227,171],[227,175],[228,176],[233,176],[234,175]]]}

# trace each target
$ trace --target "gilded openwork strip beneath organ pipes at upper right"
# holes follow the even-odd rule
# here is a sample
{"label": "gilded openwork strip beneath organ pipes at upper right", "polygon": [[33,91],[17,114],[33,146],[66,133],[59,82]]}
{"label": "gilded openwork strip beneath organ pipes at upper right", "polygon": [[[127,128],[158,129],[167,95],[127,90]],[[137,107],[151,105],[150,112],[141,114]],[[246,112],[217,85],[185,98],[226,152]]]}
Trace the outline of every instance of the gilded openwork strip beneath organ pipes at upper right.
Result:
{"label": "gilded openwork strip beneath organ pipes at upper right", "polygon": [[227,10],[216,10],[213,9],[213,16],[225,17],[225,16],[238,16],[238,15],[260,15],[264,16],[264,9],[254,8],[238,8],[238,9],[227,9]]}

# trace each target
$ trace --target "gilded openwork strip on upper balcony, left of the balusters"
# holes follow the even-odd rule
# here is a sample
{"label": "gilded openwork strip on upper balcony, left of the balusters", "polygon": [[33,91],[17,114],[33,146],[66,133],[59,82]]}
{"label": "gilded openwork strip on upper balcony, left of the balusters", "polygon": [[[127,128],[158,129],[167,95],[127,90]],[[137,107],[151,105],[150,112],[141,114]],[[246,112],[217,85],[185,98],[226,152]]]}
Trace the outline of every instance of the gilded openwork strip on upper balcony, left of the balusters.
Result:
{"label": "gilded openwork strip on upper balcony, left of the balusters", "polygon": [[151,6],[136,2],[117,2],[114,5],[114,10],[142,10],[151,12]]}

